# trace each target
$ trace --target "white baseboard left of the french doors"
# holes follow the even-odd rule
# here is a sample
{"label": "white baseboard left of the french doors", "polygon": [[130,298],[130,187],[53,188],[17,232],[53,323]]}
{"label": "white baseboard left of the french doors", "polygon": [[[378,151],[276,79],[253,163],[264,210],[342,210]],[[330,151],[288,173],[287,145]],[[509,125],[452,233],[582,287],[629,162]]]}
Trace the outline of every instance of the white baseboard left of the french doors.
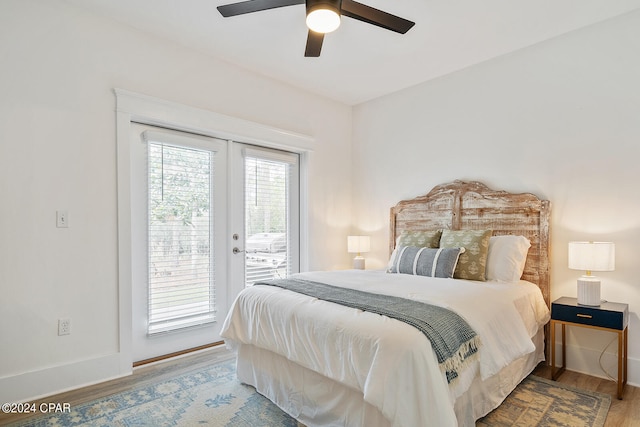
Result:
{"label": "white baseboard left of the french doors", "polygon": [[131,375],[131,372],[131,362],[122,363],[122,355],[115,353],[7,376],[0,378],[0,402],[31,402]]}

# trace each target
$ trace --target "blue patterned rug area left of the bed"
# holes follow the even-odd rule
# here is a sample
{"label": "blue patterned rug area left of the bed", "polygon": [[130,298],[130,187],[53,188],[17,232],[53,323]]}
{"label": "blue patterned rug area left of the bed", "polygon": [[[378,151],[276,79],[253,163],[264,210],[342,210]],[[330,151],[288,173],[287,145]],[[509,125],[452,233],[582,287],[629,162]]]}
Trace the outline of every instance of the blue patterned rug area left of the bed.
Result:
{"label": "blue patterned rug area left of the bed", "polygon": [[235,360],[72,407],[69,413],[12,424],[15,427],[299,425],[253,387],[238,381]]}

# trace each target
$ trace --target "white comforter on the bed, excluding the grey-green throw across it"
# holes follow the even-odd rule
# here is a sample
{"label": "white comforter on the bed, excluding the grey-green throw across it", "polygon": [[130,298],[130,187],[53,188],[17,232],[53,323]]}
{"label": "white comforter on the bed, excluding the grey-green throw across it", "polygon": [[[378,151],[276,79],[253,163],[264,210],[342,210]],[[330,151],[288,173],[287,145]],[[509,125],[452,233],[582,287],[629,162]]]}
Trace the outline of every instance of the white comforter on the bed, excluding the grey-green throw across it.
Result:
{"label": "white comforter on the bed, excluding the grey-green throw across it", "polygon": [[531,337],[549,319],[540,290],[382,271],[301,273],[296,277],[449,308],[478,333],[477,362],[447,384],[430,342],[417,329],[377,314],[273,286],[243,290],[222,328],[228,346],[251,344],[360,390],[394,426],[456,425],[455,399],[535,350]]}

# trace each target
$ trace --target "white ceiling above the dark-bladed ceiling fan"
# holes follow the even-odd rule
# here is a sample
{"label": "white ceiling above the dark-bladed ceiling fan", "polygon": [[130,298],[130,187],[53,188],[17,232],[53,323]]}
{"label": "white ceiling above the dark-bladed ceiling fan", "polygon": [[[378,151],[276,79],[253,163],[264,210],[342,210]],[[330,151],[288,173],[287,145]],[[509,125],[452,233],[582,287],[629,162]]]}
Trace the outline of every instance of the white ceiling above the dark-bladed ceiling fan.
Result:
{"label": "white ceiling above the dark-bladed ceiling fan", "polygon": [[359,0],[412,20],[401,35],[350,18],[305,58],[305,7],[231,18],[235,0],[66,0],[138,30],[355,105],[640,8],[640,0]]}

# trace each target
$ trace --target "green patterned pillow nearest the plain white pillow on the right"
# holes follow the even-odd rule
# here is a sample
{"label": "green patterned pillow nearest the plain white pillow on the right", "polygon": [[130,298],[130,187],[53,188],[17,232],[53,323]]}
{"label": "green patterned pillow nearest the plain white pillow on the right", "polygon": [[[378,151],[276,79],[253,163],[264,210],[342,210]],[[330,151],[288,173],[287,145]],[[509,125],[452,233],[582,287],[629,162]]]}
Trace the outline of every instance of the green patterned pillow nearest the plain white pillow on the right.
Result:
{"label": "green patterned pillow nearest the plain white pillow on the right", "polygon": [[491,230],[443,230],[441,248],[465,248],[453,273],[455,279],[485,281]]}

